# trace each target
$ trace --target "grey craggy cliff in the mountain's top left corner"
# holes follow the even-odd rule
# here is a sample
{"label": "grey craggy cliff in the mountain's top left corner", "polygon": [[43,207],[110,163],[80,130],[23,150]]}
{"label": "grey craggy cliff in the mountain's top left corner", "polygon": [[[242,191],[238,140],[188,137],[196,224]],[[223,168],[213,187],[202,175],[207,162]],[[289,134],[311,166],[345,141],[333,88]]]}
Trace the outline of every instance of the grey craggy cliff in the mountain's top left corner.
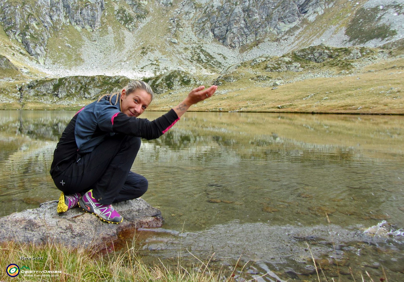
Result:
{"label": "grey craggy cliff in the mountain's top left corner", "polygon": [[1,0],[0,21],[7,35],[21,42],[27,52],[43,64],[46,43],[53,30],[70,24],[77,28],[98,29],[104,8],[104,0],[21,3]]}

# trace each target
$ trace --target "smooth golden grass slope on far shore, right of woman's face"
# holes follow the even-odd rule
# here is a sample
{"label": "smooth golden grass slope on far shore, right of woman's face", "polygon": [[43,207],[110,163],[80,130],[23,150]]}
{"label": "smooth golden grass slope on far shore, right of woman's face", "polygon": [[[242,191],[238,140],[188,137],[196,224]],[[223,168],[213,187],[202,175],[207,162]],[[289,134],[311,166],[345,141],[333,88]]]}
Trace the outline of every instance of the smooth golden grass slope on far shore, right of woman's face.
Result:
{"label": "smooth golden grass slope on far shore, right of woman's face", "polygon": [[[248,87],[245,80],[237,81],[230,86],[232,91],[216,94],[190,110],[404,114],[403,69],[404,58],[400,58],[368,65],[354,75],[305,79],[274,90],[272,87],[251,87],[251,82]],[[372,72],[368,72],[370,70]],[[220,86],[218,90],[221,90]],[[173,94],[158,98],[149,110],[167,110],[168,106],[181,102],[184,96]]]}

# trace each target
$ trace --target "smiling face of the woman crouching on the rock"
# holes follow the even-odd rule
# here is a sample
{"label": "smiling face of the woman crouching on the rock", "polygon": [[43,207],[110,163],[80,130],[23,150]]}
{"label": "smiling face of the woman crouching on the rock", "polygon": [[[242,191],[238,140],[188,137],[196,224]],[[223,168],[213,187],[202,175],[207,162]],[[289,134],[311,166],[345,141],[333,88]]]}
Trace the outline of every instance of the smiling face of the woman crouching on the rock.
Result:
{"label": "smiling face of the woman crouching on the rock", "polygon": [[143,89],[126,94],[123,89],[121,93],[121,111],[129,117],[139,117],[151,102],[151,95]]}

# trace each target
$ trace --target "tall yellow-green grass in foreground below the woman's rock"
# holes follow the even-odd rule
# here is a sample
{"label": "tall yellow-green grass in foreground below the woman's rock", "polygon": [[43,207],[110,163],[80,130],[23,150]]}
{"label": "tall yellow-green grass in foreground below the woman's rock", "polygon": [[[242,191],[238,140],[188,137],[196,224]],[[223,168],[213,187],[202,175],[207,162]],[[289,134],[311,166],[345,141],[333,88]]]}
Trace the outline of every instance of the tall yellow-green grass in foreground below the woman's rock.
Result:
{"label": "tall yellow-green grass in foreground below the woman's rock", "polygon": [[[180,264],[177,269],[171,270],[163,264],[152,267],[141,261],[134,248],[127,248],[120,253],[112,252],[106,255],[94,253],[90,249],[71,248],[57,243],[49,244],[22,244],[18,242],[0,242],[0,265],[3,269],[15,263],[19,266],[18,276],[11,278],[5,271],[0,274],[0,280],[9,281],[223,281],[223,274],[212,272],[207,263],[184,268]],[[21,260],[29,257],[30,260]],[[32,257],[43,259],[32,260]],[[25,274],[22,270],[32,271],[62,271],[59,276],[53,273]],[[44,276],[34,276],[34,275]],[[28,276],[32,275],[32,276]],[[49,276],[45,276],[49,275]],[[57,274],[56,274],[57,275]],[[225,279],[226,280],[226,279]],[[229,281],[229,280],[227,280]],[[232,279],[231,279],[232,281]]]}

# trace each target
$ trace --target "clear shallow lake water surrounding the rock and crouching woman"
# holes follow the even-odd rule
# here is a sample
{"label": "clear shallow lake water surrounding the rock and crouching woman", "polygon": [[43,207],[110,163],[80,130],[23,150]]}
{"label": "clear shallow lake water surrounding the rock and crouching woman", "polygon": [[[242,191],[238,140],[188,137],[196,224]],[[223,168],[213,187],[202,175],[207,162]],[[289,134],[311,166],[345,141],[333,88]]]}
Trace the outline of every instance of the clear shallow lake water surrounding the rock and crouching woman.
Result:
{"label": "clear shallow lake water surrounding the rock and crouching woman", "polygon": [[[0,215],[58,198],[48,171],[74,113],[0,111]],[[162,232],[138,232],[139,252],[176,264],[185,249],[214,251],[230,265],[243,253],[258,273],[311,280],[308,242],[327,275],[338,257],[342,280],[349,267],[378,279],[375,263],[404,280],[403,236],[364,232],[404,228],[403,132],[401,116],[186,113],[133,164],[165,218]]]}

